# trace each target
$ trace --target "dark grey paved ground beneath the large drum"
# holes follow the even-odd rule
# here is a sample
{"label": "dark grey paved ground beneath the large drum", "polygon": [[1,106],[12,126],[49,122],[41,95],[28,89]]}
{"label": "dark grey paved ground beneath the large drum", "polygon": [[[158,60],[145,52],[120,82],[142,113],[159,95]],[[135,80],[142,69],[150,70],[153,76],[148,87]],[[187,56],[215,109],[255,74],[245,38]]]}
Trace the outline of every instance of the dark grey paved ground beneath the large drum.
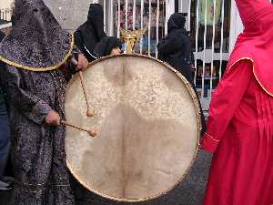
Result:
{"label": "dark grey paved ground beneath the large drum", "polygon": [[[89,191],[76,185],[76,205],[202,205],[210,160],[211,155],[203,151],[198,153],[196,163],[187,179],[175,190],[157,200],[142,203],[115,202],[90,194]],[[11,191],[0,191],[0,205],[8,205],[10,196]]]}

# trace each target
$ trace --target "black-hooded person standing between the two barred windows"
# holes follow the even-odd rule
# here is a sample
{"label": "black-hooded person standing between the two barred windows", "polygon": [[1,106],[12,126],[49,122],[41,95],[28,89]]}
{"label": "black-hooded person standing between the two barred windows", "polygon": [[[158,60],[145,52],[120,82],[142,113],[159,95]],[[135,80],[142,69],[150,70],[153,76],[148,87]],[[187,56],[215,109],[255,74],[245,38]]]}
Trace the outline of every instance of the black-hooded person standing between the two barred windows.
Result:
{"label": "black-hooded person standing between the two barred windows", "polygon": [[167,22],[167,36],[158,43],[158,58],[176,68],[187,81],[193,83],[189,66],[191,64],[191,43],[185,29],[186,18],[181,13],[170,16]]}

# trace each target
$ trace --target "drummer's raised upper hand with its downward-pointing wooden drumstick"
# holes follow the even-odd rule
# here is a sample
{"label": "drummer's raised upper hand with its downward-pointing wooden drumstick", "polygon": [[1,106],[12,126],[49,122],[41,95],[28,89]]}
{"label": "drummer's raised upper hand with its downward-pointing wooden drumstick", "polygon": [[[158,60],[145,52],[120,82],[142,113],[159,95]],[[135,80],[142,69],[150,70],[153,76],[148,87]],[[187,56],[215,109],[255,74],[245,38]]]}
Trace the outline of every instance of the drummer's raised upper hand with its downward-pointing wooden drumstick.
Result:
{"label": "drummer's raised upper hand with its downward-pointing wooden drumstick", "polygon": [[87,106],[87,111],[86,111],[86,116],[87,117],[93,117],[94,116],[94,110],[91,108],[89,101],[88,101],[88,97],[87,97],[87,91],[86,91],[86,85],[84,82],[84,77],[83,77],[83,73],[82,73],[82,69],[86,69],[86,67],[88,66],[88,61],[86,59],[85,56],[83,56],[82,54],[78,55],[78,61],[76,61],[75,58],[71,59],[72,63],[76,65],[77,69],[79,69],[79,77],[81,80],[81,84],[84,90],[84,95],[86,98],[86,106]]}

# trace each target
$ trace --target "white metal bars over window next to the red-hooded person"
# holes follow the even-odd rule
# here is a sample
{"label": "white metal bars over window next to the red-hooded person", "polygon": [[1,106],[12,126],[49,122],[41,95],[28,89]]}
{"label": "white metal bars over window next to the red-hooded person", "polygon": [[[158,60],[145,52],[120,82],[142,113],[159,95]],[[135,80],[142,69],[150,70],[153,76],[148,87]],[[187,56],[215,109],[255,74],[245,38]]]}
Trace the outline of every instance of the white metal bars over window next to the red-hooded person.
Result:
{"label": "white metal bars over window next to the red-hooded person", "polygon": [[[194,38],[194,81],[204,109],[208,108],[229,56],[230,0],[183,0],[179,12],[187,13],[187,29]],[[194,18],[194,19],[193,19]],[[193,22],[195,25],[193,26]]]}

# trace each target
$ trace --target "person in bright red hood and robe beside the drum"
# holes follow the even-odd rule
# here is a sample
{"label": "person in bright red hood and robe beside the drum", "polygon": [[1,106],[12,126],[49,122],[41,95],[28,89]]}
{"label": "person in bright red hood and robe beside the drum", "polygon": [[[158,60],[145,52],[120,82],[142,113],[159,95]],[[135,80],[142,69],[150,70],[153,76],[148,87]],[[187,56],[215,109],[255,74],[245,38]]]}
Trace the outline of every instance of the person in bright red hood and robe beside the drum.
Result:
{"label": "person in bright red hood and robe beside the drum", "polygon": [[215,90],[201,147],[214,153],[205,205],[273,204],[273,6],[237,0],[245,29]]}

